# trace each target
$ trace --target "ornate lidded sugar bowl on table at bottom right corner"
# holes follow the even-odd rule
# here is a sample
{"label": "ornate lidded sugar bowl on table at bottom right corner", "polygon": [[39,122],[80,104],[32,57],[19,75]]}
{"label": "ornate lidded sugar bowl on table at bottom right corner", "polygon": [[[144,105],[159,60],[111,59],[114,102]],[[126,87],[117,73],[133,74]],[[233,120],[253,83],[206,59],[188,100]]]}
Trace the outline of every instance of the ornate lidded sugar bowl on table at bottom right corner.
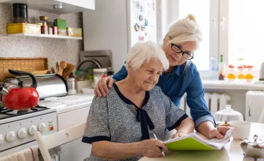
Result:
{"label": "ornate lidded sugar bowl on table at bottom right corner", "polygon": [[251,157],[255,160],[264,158],[264,141],[258,139],[258,135],[254,135],[253,139],[244,139],[240,142],[240,146],[246,157]]}

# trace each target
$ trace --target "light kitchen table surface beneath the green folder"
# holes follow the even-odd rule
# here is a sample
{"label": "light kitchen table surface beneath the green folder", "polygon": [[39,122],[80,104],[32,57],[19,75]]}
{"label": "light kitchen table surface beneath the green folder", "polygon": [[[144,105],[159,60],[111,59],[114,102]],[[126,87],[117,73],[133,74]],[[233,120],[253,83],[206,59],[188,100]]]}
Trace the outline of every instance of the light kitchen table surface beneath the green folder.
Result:
{"label": "light kitchen table surface beneath the green folder", "polygon": [[[264,139],[264,123],[252,123],[250,137],[258,135]],[[165,157],[160,158],[141,158],[140,161],[192,161],[192,160],[213,160],[213,161],[248,161],[254,158],[246,158],[240,148],[240,141],[231,139],[231,141],[220,151],[172,151],[165,153]],[[263,161],[258,159],[257,161]]]}

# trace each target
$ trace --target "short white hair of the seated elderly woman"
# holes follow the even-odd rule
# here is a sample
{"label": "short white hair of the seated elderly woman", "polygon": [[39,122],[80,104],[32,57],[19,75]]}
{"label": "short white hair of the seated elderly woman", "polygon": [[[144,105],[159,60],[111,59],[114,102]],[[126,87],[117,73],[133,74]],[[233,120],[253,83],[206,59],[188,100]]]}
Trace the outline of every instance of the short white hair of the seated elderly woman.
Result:
{"label": "short white hair of the seated elderly woman", "polygon": [[[133,45],[127,54],[126,64],[129,64],[132,70],[138,70],[143,63],[149,63],[151,59],[160,61],[163,71],[170,66],[163,49],[152,41],[138,42]],[[126,70],[128,70],[128,66],[126,66]]]}

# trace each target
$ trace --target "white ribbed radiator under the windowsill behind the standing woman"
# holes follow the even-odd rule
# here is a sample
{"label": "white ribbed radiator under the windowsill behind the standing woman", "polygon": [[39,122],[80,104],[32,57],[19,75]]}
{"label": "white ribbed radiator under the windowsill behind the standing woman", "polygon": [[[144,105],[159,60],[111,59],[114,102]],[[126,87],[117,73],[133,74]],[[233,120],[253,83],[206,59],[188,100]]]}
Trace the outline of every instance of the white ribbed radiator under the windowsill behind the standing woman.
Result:
{"label": "white ribbed radiator under the windowsill behind the standing woman", "polygon": [[[188,116],[190,116],[190,108],[187,105],[186,96],[187,95],[185,93],[183,95],[183,98],[181,98],[180,108],[183,109],[185,113],[188,114]],[[224,109],[226,106],[226,102],[231,100],[230,95],[226,95],[224,93],[204,93],[204,99],[206,100],[208,110],[212,115],[214,115],[215,112]]]}

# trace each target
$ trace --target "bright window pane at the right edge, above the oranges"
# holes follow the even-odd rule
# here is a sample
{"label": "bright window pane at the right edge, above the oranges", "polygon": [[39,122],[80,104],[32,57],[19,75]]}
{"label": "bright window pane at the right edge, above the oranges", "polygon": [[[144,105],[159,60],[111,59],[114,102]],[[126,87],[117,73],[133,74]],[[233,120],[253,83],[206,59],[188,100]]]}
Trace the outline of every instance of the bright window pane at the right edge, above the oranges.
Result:
{"label": "bright window pane at the right edge, above the oranges", "polygon": [[260,68],[264,61],[263,6],[263,0],[229,0],[228,63],[238,65],[237,59],[243,58],[245,65]]}

